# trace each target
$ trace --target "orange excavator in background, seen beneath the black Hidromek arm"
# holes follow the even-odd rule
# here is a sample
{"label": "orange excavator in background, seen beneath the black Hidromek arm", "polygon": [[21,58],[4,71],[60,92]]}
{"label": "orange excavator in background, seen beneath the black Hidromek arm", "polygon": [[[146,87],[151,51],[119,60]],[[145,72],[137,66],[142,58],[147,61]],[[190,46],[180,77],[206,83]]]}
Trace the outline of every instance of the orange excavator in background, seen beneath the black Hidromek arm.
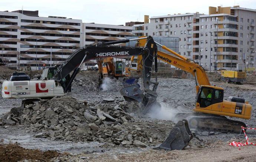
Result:
{"label": "orange excavator in background, seen beneath the black Hidromek arm", "polygon": [[125,67],[125,59],[113,57],[98,59],[97,65],[99,67],[99,85],[106,76],[115,77],[116,79],[131,76],[128,67]]}

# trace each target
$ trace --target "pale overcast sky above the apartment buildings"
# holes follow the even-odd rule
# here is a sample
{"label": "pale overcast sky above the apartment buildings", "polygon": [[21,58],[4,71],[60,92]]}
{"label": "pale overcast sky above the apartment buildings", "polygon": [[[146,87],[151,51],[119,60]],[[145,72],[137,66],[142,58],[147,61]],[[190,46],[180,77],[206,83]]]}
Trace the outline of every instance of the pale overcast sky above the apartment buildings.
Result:
{"label": "pale overcast sky above the apartment buildings", "polygon": [[144,21],[144,15],[204,13],[208,7],[256,9],[256,0],[0,0],[0,11],[39,10],[39,16],[60,16],[82,20],[83,23],[125,25]]}

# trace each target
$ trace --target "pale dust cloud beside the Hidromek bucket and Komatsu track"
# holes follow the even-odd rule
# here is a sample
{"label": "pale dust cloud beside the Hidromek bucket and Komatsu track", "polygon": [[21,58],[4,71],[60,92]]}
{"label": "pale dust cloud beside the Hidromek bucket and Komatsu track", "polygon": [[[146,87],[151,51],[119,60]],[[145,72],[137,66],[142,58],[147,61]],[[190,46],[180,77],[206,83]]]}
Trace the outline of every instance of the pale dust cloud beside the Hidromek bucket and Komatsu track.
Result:
{"label": "pale dust cloud beside the Hidromek bucket and Komatsu track", "polygon": [[160,119],[160,120],[175,121],[175,115],[178,113],[178,110],[176,108],[167,106],[165,103],[160,103],[160,104],[161,104],[161,110],[159,110],[159,108],[152,108],[148,116],[151,118]]}

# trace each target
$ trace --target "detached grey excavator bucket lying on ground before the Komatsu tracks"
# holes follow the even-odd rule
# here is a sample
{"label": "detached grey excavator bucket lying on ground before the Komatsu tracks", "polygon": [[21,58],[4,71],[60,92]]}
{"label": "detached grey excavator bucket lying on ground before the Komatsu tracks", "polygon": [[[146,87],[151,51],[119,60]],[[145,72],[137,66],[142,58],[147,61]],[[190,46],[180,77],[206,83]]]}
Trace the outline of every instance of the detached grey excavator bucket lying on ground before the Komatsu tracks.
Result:
{"label": "detached grey excavator bucket lying on ground before the Komatsu tracks", "polygon": [[178,121],[175,127],[171,129],[170,134],[164,142],[161,145],[154,147],[154,149],[181,150],[188,145],[192,138],[193,134],[188,127],[188,121],[183,119]]}

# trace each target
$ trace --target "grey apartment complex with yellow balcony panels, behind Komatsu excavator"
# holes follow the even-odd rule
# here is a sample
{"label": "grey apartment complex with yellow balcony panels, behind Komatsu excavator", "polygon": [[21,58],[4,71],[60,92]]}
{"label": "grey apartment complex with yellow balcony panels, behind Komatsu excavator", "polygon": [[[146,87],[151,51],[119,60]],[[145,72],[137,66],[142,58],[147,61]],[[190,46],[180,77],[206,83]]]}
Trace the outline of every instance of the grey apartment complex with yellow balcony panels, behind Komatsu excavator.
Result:
{"label": "grey apartment complex with yellow balcony panels, behind Komatsu excavator", "polygon": [[178,37],[180,55],[193,59],[205,70],[243,69],[256,67],[255,21],[254,9],[209,7],[208,15],[151,17],[150,23],[144,24],[144,35]]}

